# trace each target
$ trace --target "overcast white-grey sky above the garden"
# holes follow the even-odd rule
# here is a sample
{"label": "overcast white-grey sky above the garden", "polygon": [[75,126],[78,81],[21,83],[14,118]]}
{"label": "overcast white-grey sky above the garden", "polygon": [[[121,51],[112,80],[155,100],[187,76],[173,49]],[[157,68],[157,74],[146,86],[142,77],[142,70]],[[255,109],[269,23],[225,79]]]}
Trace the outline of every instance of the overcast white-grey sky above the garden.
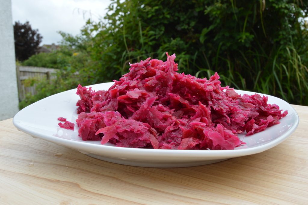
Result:
{"label": "overcast white-grey sky above the garden", "polygon": [[[29,21],[43,36],[42,44],[58,43],[57,31],[80,33],[87,19],[97,21],[106,14],[110,0],[11,0],[13,24]],[[91,15],[90,15],[91,13]]]}

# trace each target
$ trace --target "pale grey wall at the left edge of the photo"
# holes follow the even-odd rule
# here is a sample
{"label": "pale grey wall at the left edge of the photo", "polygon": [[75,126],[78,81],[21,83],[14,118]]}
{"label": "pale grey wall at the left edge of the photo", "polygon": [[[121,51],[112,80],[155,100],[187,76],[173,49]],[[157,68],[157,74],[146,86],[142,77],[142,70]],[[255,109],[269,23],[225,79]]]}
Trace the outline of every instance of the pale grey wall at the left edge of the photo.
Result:
{"label": "pale grey wall at the left edge of the photo", "polygon": [[0,0],[0,120],[18,112],[11,0]]}

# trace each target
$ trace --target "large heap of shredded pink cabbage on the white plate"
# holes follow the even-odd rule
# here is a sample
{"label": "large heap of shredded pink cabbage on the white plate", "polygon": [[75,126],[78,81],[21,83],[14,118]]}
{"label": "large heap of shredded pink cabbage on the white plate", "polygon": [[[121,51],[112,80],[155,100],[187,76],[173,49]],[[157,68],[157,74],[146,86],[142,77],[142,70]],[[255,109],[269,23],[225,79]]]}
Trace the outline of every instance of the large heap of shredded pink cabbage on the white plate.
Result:
{"label": "large heap of shredded pink cabbage on the white plate", "polygon": [[130,64],[107,91],[79,84],[79,137],[118,147],[232,150],[245,144],[238,133],[260,132],[288,113],[265,96],[221,87],[217,73],[209,80],[178,73],[175,54],[167,56]]}

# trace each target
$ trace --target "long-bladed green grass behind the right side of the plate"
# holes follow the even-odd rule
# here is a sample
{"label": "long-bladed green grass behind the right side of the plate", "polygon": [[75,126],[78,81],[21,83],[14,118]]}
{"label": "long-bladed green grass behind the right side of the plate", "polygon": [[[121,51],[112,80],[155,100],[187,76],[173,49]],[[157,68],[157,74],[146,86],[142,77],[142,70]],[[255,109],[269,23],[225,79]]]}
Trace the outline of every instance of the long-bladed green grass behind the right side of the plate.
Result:
{"label": "long-bladed green grass behind the right side of the plate", "polygon": [[[241,64],[247,67],[248,75],[237,72],[236,66],[229,59],[219,57],[228,65],[224,72],[219,73],[223,84],[240,90],[278,96],[290,103],[307,105],[308,68],[294,47],[281,46],[273,56],[262,55],[257,51],[248,51],[247,53],[254,56],[252,63],[250,63],[242,53]],[[268,62],[265,67],[262,67],[260,63],[262,61]],[[209,78],[213,74],[213,69],[209,67],[200,69],[196,76]],[[249,79],[245,76],[249,76]]]}

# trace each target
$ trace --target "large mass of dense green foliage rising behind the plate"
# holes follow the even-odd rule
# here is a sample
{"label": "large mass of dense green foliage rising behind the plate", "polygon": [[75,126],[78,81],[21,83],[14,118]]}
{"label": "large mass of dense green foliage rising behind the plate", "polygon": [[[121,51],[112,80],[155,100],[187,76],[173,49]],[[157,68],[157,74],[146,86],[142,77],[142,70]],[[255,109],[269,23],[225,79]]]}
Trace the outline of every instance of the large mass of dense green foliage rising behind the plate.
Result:
{"label": "large mass of dense green foliage rising behind the plate", "polygon": [[108,82],[128,72],[128,62],[165,60],[167,51],[176,53],[180,72],[218,72],[225,85],[308,105],[307,6],[290,0],[112,1],[105,19],[87,21],[81,35],[61,33],[63,51],[81,55],[59,77],[67,89]]}

